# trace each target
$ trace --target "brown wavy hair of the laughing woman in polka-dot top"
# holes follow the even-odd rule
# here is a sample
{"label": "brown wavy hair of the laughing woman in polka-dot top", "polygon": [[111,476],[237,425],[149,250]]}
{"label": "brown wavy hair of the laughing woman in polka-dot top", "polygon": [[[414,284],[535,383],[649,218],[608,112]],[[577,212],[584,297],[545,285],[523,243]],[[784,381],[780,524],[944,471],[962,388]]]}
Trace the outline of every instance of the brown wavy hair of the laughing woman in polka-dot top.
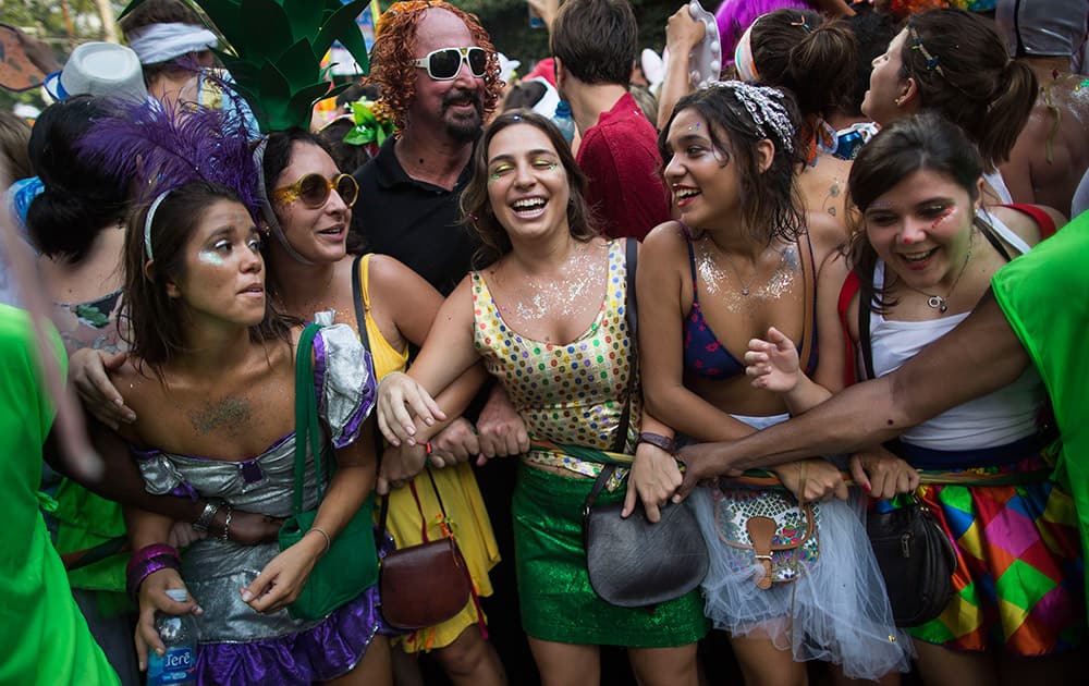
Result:
{"label": "brown wavy hair of the laughing woman in polka-dot top", "polygon": [[576,241],[586,242],[600,235],[597,222],[586,205],[586,174],[575,162],[571,146],[551,121],[530,110],[509,110],[488,125],[473,156],[473,180],[462,192],[462,223],[480,238],[481,246],[474,256],[474,264],[482,268],[511,252],[506,229],[495,219],[488,197],[488,148],[495,134],[507,126],[528,124],[544,132],[567,172],[567,224]]}

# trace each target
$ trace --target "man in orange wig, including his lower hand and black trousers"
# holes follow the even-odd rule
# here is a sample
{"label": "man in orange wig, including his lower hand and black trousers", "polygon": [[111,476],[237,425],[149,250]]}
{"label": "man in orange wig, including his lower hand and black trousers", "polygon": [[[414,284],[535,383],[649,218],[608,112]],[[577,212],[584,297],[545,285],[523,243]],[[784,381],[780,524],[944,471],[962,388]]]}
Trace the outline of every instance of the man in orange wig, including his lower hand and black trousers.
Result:
{"label": "man in orange wig, including his lower hand and black trousers", "polygon": [[[352,212],[352,233],[368,252],[391,255],[449,295],[473,268],[479,245],[460,222],[458,199],[473,175],[485,114],[499,101],[495,50],[476,17],[460,9],[441,1],[396,3],[379,22],[370,59],[370,83],[379,87],[400,134],[353,174],[359,201]],[[499,395],[502,402],[489,401],[482,411],[482,403],[475,403],[476,409],[466,413],[477,418],[481,450],[488,455],[525,452],[525,427],[501,389]],[[525,441],[521,450],[518,440]],[[531,684],[537,674],[522,630],[514,577],[511,491],[516,463],[495,460],[475,471],[502,556],[490,575],[493,593],[481,602],[509,683]],[[441,674],[428,673],[429,666],[424,665],[427,683],[441,681]]]}

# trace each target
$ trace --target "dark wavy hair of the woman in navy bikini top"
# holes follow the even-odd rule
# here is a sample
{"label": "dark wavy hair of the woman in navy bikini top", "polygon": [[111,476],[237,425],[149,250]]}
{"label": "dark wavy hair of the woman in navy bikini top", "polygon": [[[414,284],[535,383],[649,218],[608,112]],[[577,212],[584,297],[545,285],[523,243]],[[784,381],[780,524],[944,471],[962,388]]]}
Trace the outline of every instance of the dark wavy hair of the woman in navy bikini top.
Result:
{"label": "dark wavy hair of the woman in navy bikini top", "polygon": [[[787,151],[782,142],[771,132],[761,133],[752,115],[734,95],[734,89],[723,82],[690,93],[677,101],[670,114],[669,122],[658,134],[658,150],[662,156],[662,171],[673,158],[669,147],[669,133],[673,120],[684,110],[693,109],[699,112],[708,122],[708,136],[711,145],[719,152],[729,151],[729,162],[737,166],[741,179],[742,219],[759,242],[771,244],[776,237],[784,241],[796,240],[806,226],[805,204],[795,183],[795,169],[805,161],[806,146],[803,142],[802,115],[798,112],[794,97],[788,90],[783,94],[782,102],[794,124],[793,151]],[[725,139],[721,136],[725,134]],[[771,166],[763,172],[757,167],[756,144],[768,138],[775,147]],[[720,159],[723,159],[720,157]],[[696,226],[698,229],[698,226]]]}

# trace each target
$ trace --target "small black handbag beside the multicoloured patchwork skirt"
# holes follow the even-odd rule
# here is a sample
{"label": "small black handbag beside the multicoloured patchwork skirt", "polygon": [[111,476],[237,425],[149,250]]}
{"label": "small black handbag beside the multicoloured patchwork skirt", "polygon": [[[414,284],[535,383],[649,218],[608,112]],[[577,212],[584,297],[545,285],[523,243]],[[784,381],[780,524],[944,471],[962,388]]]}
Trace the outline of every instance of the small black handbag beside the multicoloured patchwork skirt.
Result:
{"label": "small black handbag beside the multicoloured patchwork skirt", "polygon": [[869,513],[866,532],[884,577],[896,626],[918,626],[953,598],[956,551],[918,499],[891,512]]}

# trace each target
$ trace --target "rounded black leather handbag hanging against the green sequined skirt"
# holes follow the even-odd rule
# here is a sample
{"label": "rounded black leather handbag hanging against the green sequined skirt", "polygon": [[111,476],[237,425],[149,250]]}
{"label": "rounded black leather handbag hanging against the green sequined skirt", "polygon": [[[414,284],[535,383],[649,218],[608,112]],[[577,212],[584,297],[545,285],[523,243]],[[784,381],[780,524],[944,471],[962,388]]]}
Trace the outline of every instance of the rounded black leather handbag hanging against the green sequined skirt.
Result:
{"label": "rounded black leather handbag hanging against the green sequined skirt", "polygon": [[594,506],[615,470],[605,465],[586,499],[583,536],[590,586],[621,608],[641,608],[674,600],[699,586],[710,559],[692,510],[666,502],[652,524],[643,507],[620,516],[623,503]]}

